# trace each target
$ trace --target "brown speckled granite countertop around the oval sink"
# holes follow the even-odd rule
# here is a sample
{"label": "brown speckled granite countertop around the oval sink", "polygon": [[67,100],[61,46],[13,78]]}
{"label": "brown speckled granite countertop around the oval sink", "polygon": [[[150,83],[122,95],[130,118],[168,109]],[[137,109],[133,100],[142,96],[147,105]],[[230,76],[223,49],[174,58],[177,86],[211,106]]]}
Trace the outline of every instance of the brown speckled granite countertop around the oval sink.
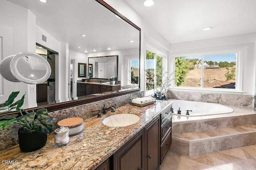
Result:
{"label": "brown speckled granite countertop around the oval sink", "polygon": [[[70,142],[63,147],[55,147],[54,135],[48,135],[46,145],[34,152],[21,152],[18,145],[1,150],[1,161],[12,160],[13,164],[0,164],[0,169],[94,170],[171,103],[157,100],[155,104],[144,107],[128,104],[116,108],[114,113],[108,111],[108,114],[102,115],[102,118],[95,116],[86,119],[84,120],[84,131],[70,137]],[[126,127],[109,127],[102,123],[106,117],[118,113],[134,113],[140,116],[140,120]]]}

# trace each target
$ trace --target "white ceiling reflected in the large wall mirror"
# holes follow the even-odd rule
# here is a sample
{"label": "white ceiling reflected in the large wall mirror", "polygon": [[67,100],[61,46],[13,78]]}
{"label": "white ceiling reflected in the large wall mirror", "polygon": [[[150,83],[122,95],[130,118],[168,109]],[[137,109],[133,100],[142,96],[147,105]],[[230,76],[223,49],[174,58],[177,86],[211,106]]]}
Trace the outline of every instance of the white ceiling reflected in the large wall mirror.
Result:
{"label": "white ceiling reflected in the large wall mirror", "polygon": [[68,43],[70,50],[92,53],[94,49],[139,48],[139,31],[95,0],[7,1],[28,8],[36,16],[36,24],[58,41]]}

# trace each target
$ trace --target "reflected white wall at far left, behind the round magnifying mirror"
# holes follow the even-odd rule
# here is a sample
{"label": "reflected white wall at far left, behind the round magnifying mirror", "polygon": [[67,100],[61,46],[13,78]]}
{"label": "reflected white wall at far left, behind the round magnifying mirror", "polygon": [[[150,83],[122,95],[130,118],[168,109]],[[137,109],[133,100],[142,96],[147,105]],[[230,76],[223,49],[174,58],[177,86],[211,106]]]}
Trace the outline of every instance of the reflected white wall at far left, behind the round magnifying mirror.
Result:
{"label": "reflected white wall at far left, behind the round magnifying mirror", "polygon": [[[12,27],[13,30],[13,53],[18,54],[26,51],[35,52],[35,39],[36,39],[36,19],[34,14],[26,8],[22,8],[6,0],[0,1],[0,24]],[[7,57],[7,56],[4,56]],[[35,98],[36,93],[30,93],[30,86],[25,83],[14,83],[13,91],[20,91],[17,99],[21,98],[26,93],[24,99],[24,108],[36,106]],[[2,101],[0,101],[2,102]]]}

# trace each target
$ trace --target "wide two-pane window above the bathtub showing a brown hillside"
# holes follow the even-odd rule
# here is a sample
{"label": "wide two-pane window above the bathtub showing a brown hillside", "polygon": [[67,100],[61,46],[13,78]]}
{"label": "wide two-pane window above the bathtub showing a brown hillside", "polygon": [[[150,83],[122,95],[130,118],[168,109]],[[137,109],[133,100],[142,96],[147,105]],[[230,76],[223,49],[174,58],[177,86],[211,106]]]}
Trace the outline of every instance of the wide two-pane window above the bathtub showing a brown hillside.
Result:
{"label": "wide two-pane window above the bathtub showing a brown hillside", "polygon": [[236,89],[238,52],[175,57],[175,86]]}

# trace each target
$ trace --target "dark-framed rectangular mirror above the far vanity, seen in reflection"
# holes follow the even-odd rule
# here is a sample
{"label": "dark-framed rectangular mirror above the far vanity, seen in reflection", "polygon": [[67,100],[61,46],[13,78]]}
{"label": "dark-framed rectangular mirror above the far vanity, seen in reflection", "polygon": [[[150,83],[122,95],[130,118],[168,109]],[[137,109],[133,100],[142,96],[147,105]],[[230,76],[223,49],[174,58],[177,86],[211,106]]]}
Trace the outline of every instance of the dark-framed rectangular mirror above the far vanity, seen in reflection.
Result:
{"label": "dark-framed rectangular mirror above the far vanity, seen in reflection", "polygon": [[88,57],[88,63],[94,65],[92,78],[105,78],[115,76],[118,79],[118,55]]}

